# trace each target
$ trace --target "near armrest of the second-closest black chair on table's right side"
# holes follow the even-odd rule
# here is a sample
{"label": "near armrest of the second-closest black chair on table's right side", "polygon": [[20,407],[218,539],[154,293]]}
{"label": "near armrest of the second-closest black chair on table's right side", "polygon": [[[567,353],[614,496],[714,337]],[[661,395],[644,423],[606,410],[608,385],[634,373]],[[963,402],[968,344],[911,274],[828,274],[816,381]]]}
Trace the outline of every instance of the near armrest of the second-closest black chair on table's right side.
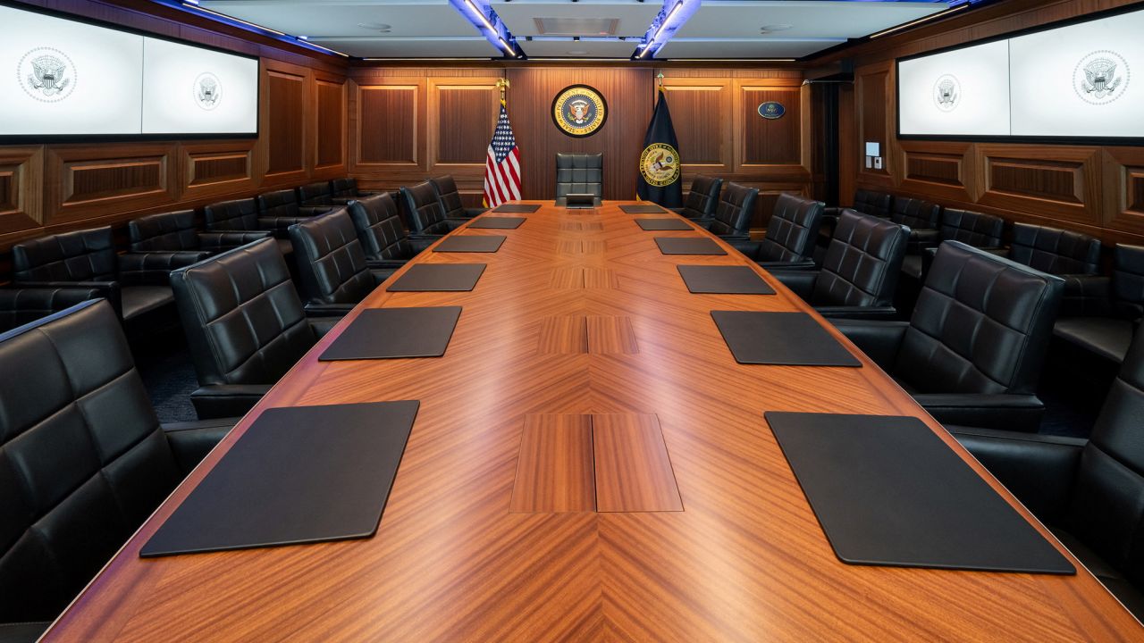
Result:
{"label": "near armrest of the second-closest black chair on table's right side", "polygon": [[943,424],[1036,432],[1044,414],[1035,395],[916,394],[914,400]]}

